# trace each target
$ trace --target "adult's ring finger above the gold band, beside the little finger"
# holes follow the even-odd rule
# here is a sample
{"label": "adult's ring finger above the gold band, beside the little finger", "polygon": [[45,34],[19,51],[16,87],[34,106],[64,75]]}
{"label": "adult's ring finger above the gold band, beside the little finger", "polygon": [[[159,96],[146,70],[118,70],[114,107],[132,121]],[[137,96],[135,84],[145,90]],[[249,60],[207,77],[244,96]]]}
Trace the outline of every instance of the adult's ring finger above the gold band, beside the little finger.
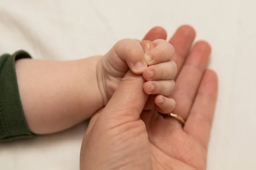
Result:
{"label": "adult's ring finger above the gold band, beside the little finger", "polygon": [[175,92],[172,95],[176,101],[173,113],[180,115],[183,119],[187,118],[194,101],[209,61],[210,51],[211,48],[207,42],[197,42],[176,79]]}

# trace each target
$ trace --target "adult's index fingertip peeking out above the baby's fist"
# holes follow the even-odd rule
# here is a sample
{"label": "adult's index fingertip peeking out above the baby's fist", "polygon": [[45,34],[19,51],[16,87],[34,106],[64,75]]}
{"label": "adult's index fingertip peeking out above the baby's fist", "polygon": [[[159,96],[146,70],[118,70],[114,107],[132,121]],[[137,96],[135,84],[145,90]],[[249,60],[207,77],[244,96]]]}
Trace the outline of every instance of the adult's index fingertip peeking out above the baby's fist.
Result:
{"label": "adult's index fingertip peeking out above the baby's fist", "polygon": [[148,31],[148,33],[145,35],[143,40],[149,40],[149,41],[154,41],[157,39],[166,40],[166,38],[167,38],[167,33],[165,29],[157,26],[157,27],[151,28],[151,30]]}

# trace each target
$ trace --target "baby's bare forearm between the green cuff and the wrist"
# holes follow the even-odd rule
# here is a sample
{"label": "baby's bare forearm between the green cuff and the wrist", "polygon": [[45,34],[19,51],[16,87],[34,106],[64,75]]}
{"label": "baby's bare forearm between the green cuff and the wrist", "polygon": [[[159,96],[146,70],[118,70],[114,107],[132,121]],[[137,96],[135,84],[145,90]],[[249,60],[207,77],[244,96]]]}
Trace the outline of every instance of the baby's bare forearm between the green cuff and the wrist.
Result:
{"label": "baby's bare forearm between the green cuff and the wrist", "polygon": [[20,59],[15,62],[23,112],[33,133],[65,130],[102,108],[96,78],[100,58]]}

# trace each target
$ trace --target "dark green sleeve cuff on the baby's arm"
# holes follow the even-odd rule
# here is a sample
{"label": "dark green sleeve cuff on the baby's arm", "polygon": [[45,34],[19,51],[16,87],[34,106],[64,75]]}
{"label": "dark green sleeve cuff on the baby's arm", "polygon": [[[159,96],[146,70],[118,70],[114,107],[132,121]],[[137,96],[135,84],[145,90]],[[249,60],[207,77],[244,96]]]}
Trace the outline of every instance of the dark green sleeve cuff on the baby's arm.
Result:
{"label": "dark green sleeve cuff on the baby's arm", "polygon": [[32,136],[23,113],[17,84],[15,61],[31,58],[25,51],[0,57],[0,141]]}

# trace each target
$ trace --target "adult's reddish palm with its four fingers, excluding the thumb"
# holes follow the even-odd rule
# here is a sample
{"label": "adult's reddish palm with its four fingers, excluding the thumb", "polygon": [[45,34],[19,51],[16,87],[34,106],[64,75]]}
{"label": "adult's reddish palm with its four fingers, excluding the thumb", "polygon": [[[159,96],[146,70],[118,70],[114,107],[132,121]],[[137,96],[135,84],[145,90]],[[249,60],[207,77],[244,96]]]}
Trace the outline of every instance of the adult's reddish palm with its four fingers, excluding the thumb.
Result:
{"label": "adult's reddish palm with its four fingers, excluding the thumb", "polygon": [[[162,28],[153,28],[145,39],[154,40],[157,35],[166,38]],[[175,48],[173,60],[179,70],[173,94],[176,101],[173,113],[186,119],[184,127],[175,119],[156,116],[153,111],[142,115],[155,169],[206,169],[218,81],[215,72],[207,69],[209,44],[198,41],[190,51],[194,38],[193,28],[181,26],[169,41]],[[158,163],[154,164],[154,161]]]}

